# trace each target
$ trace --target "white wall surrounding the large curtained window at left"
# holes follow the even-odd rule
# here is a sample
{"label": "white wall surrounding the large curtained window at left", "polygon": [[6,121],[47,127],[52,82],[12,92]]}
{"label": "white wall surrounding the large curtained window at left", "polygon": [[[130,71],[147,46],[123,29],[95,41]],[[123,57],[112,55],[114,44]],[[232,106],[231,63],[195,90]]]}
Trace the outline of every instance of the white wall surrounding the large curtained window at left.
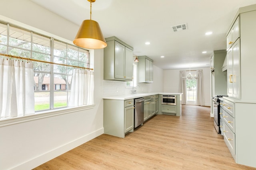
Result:
{"label": "white wall surrounding the large curtained window at left", "polygon": [[[4,1],[0,20],[44,30],[70,40],[79,25],[40,8],[30,0]],[[8,18],[6,18],[8,17]],[[9,18],[25,23],[18,23]],[[33,30],[33,29],[32,29]],[[34,31],[34,30],[33,30]],[[40,31],[40,30],[39,30]],[[40,31],[44,34],[44,31]],[[56,37],[56,36],[55,36]],[[0,127],[0,169],[32,169],[101,135],[103,129],[103,49],[94,51],[93,109]]]}

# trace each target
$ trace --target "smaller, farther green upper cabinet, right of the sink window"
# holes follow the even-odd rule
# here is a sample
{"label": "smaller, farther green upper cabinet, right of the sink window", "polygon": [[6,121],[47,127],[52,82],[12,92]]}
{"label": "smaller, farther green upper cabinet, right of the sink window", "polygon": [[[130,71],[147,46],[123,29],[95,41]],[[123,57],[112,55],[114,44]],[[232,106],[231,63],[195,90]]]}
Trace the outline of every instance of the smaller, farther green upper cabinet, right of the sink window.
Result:
{"label": "smaller, farther green upper cabinet, right of the sink window", "polygon": [[138,56],[138,82],[153,82],[153,60],[147,56]]}

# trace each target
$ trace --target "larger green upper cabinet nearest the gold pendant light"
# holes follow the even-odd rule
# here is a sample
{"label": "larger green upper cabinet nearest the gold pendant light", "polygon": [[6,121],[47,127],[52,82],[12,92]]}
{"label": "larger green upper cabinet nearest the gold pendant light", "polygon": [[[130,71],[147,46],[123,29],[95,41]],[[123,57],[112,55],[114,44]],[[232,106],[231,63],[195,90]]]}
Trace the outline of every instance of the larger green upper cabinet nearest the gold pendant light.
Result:
{"label": "larger green upper cabinet nearest the gold pendant light", "polygon": [[106,38],[104,80],[132,80],[133,48],[116,37]]}

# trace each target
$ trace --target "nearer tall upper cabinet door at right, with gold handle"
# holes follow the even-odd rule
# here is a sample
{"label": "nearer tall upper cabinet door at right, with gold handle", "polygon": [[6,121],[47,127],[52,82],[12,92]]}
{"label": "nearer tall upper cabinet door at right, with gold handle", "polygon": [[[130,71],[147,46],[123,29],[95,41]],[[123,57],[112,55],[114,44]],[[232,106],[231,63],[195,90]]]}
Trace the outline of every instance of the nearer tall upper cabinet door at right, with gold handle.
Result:
{"label": "nearer tall upper cabinet door at right, with gold handle", "polygon": [[241,98],[241,80],[240,80],[240,39],[238,39],[234,45],[233,49],[233,97]]}

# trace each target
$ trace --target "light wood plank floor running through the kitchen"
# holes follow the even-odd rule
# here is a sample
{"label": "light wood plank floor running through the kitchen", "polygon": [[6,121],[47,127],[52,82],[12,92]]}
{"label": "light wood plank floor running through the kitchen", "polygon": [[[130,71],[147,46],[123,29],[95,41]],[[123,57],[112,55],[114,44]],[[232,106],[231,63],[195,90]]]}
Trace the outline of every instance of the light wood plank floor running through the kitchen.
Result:
{"label": "light wood plank floor running through the kitchen", "polygon": [[210,107],[156,115],[124,139],[100,135],[35,170],[252,170],[236,164],[216,133]]}

